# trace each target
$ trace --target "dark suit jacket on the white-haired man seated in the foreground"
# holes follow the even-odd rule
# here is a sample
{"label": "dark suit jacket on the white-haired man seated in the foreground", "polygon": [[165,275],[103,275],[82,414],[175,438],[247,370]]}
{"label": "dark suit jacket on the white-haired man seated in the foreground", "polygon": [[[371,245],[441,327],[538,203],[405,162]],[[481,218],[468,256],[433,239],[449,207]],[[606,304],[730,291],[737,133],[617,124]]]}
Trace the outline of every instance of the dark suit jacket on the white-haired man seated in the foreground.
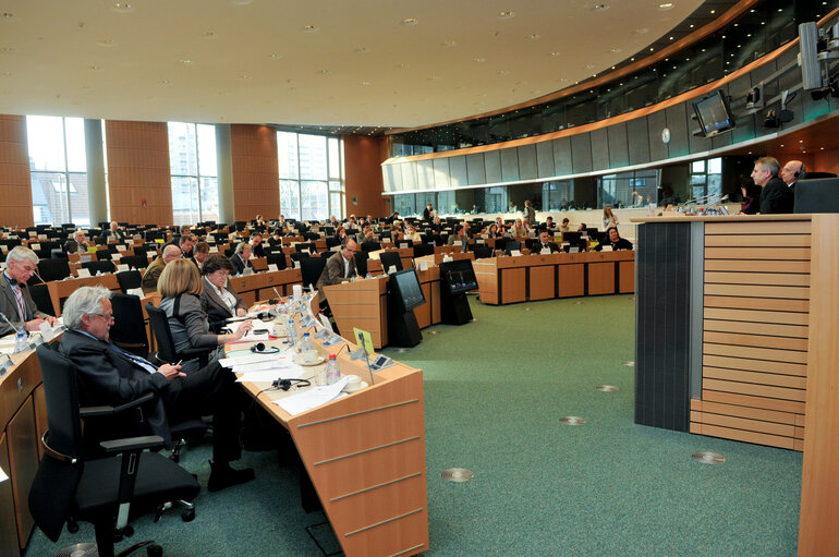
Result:
{"label": "dark suit jacket on the white-haired man seated in the foreground", "polygon": [[155,435],[169,443],[169,423],[160,393],[169,388],[170,382],[163,374],[148,373],[110,343],[73,329],[61,337],[59,351],[76,366],[78,397],[83,404],[119,405],[147,392],[158,395],[148,424]]}

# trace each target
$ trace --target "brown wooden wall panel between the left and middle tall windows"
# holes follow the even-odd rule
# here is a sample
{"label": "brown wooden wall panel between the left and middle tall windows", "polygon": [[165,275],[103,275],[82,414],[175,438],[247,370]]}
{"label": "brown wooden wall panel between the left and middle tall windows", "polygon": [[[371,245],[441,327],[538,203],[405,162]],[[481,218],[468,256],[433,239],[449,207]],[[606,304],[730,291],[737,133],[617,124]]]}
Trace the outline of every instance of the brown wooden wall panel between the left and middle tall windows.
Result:
{"label": "brown wooden wall panel between the left and middle tall windows", "polygon": [[166,122],[105,122],[111,218],[171,225],[172,186]]}

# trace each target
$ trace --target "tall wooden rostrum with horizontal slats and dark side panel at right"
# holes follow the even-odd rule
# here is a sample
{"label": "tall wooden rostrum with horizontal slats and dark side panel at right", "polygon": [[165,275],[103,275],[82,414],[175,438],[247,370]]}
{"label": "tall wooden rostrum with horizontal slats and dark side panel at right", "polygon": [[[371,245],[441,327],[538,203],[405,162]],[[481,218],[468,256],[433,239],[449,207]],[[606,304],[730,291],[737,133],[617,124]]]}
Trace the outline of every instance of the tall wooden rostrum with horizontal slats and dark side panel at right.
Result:
{"label": "tall wooden rostrum with horizontal slats and dark side panel at right", "polygon": [[799,555],[839,555],[839,215],[633,221],[635,422],[803,450]]}

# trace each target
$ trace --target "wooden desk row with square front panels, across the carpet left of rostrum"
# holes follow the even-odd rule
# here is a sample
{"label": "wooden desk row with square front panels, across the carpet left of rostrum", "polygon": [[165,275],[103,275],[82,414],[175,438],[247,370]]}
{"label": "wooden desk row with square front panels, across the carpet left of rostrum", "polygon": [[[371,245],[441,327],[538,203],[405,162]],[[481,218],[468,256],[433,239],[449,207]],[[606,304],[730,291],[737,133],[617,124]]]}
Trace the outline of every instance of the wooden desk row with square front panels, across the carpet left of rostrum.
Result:
{"label": "wooden desk row with square front panels, across the carpet left of rostrum", "polygon": [[554,253],[476,259],[481,301],[502,305],[634,291],[635,252]]}

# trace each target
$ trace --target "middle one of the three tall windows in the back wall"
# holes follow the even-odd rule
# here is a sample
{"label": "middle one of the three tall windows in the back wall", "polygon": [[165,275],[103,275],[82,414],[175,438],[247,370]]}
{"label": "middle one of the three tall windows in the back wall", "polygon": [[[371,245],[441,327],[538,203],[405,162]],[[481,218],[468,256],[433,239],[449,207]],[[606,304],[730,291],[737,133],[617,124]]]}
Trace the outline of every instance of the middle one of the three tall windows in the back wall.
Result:
{"label": "middle one of the three tall windows in the back wall", "polygon": [[169,122],[174,225],[219,220],[216,126]]}

